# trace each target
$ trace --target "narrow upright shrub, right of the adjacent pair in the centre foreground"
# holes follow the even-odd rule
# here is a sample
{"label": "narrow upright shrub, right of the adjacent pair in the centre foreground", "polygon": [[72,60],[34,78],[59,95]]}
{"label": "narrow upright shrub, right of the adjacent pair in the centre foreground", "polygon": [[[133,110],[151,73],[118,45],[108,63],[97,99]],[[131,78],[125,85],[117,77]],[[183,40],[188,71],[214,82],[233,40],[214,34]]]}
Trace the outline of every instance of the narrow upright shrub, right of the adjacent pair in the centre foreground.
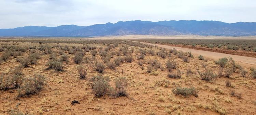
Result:
{"label": "narrow upright shrub, right of the adjacent pair in the centre foreground", "polygon": [[126,92],[128,87],[128,80],[125,77],[119,77],[115,80],[116,95],[117,96],[128,96]]}

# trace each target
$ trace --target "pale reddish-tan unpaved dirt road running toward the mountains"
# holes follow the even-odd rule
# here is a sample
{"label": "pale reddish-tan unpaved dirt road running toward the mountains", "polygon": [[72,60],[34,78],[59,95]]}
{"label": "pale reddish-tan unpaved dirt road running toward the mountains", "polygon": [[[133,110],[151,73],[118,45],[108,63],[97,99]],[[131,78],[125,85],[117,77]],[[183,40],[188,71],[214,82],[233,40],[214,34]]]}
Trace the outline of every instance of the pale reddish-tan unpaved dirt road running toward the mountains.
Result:
{"label": "pale reddish-tan unpaved dirt road running toward the mountains", "polygon": [[[135,41],[132,41],[135,42]],[[226,53],[218,53],[218,52],[211,52],[211,51],[203,51],[203,50],[196,50],[196,49],[189,49],[189,48],[181,48],[181,47],[174,47],[174,46],[167,46],[167,45],[160,45],[160,44],[151,44],[151,43],[144,43],[144,42],[139,42],[143,44],[148,44],[148,45],[156,45],[162,48],[167,48],[167,49],[172,49],[175,48],[176,50],[180,51],[191,51],[192,54],[194,55],[203,55],[206,58],[213,59],[213,60],[218,60],[223,57],[232,57],[233,60],[245,67],[256,67],[256,58],[254,57],[246,57],[246,56],[240,56],[240,55],[231,55],[231,54],[226,54]]]}

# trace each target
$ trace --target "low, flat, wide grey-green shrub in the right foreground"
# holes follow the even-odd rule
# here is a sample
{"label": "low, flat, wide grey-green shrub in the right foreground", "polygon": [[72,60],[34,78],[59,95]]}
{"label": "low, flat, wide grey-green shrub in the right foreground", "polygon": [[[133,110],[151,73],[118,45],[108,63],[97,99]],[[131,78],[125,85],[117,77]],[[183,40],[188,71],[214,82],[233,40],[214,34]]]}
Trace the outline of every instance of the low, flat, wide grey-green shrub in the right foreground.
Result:
{"label": "low, flat, wide grey-green shrub in the right foreground", "polygon": [[172,90],[172,92],[175,94],[175,95],[182,95],[184,97],[187,97],[189,95],[195,95],[196,97],[198,96],[197,95],[197,91],[194,87],[190,87],[190,88],[187,88],[187,87],[176,87]]}

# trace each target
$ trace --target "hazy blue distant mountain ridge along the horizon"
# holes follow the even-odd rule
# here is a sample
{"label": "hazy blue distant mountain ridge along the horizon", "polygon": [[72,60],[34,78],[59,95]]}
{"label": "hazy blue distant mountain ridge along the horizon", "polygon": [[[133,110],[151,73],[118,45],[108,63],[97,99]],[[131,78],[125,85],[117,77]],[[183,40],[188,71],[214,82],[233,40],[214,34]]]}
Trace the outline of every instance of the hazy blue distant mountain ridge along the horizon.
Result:
{"label": "hazy blue distant mountain ridge along the horizon", "polygon": [[118,21],[92,26],[62,25],[58,27],[26,26],[0,29],[0,36],[106,36],[106,35],[256,35],[256,22],[225,23],[221,21]]}

